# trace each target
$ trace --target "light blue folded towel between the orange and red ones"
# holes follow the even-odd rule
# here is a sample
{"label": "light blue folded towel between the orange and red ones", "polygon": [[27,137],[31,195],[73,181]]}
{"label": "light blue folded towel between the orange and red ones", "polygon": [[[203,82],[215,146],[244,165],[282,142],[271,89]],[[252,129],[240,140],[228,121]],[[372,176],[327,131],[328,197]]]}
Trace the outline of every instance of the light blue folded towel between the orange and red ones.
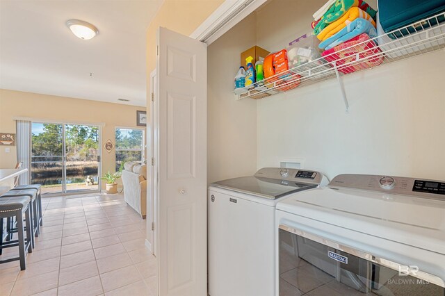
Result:
{"label": "light blue folded towel between the orange and red ones", "polygon": [[359,17],[354,19],[353,22],[350,22],[335,35],[318,44],[318,47],[321,49],[332,49],[332,47],[336,47],[337,45],[363,33],[368,34],[371,38],[377,37],[377,30],[375,30],[373,24],[368,20]]}

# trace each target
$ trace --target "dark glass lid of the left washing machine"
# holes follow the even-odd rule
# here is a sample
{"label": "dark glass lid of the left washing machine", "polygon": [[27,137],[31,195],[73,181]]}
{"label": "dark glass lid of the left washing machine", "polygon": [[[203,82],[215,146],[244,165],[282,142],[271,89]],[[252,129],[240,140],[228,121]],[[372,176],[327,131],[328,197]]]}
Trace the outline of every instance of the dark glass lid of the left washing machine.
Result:
{"label": "dark glass lid of the left washing machine", "polygon": [[255,195],[267,199],[277,199],[293,192],[316,188],[316,184],[298,183],[288,180],[268,179],[257,176],[243,176],[212,183],[211,186],[235,192]]}

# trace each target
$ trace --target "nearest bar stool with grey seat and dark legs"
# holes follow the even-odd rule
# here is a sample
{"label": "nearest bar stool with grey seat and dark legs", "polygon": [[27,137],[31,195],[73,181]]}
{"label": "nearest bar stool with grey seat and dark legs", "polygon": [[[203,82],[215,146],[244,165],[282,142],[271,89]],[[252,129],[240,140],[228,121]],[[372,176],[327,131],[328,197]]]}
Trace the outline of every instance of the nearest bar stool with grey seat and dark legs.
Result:
{"label": "nearest bar stool with grey seat and dark legs", "polygon": [[[1,263],[7,263],[11,261],[20,261],[20,270],[26,269],[26,252],[32,253],[33,249],[31,247],[33,241],[33,233],[31,232],[31,208],[29,207],[30,197],[19,196],[19,197],[3,197],[0,198],[0,236],[3,238],[3,219],[13,219],[17,220],[17,233],[18,240],[10,240],[8,242],[2,242],[0,245],[0,250],[7,247],[19,247],[19,256],[15,258],[9,258],[6,260],[0,260]],[[24,238],[24,227],[23,220],[25,219],[26,224],[26,240]]]}

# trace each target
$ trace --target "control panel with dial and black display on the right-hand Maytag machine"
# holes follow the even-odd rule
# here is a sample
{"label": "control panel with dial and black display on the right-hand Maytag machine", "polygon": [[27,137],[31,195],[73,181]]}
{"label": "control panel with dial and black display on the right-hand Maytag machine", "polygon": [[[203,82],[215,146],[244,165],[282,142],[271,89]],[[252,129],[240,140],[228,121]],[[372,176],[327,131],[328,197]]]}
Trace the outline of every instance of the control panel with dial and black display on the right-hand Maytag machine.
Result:
{"label": "control panel with dial and black display on the right-hand Maytag machine", "polygon": [[329,187],[373,190],[396,195],[411,195],[445,200],[445,181],[401,176],[340,174],[332,179]]}

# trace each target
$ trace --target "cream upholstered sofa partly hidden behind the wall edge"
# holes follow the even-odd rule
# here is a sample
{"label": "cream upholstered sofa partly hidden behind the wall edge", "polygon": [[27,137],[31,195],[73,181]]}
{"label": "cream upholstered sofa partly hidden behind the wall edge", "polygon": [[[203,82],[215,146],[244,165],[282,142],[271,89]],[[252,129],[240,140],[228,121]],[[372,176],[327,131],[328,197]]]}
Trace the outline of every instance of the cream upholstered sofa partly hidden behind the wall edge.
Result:
{"label": "cream upholstered sofa partly hidden behind the wall edge", "polygon": [[122,185],[125,202],[145,219],[147,215],[147,165],[136,162],[124,163]]}

